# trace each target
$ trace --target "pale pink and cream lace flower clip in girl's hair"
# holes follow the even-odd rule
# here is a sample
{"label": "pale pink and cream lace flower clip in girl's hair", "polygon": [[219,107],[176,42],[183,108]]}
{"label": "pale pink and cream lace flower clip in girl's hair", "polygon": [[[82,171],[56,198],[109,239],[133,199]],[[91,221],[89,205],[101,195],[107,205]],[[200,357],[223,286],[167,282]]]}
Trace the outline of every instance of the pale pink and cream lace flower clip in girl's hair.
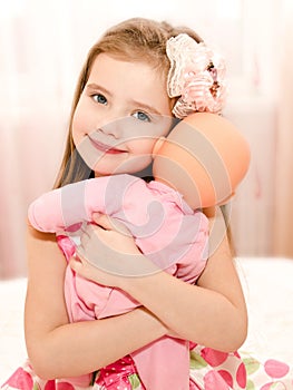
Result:
{"label": "pale pink and cream lace flower clip in girl's hair", "polygon": [[179,97],[173,114],[183,119],[195,111],[221,114],[225,100],[225,61],[204,42],[187,33],[167,40],[170,69],[167,92]]}

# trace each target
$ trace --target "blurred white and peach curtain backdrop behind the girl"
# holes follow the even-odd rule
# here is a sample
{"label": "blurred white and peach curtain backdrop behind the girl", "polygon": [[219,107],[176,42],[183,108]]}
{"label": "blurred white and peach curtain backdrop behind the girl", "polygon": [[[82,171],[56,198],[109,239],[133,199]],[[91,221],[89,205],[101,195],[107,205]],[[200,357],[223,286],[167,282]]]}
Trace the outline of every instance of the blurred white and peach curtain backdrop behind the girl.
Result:
{"label": "blurred white and peach curtain backdrop behind the girl", "polygon": [[292,1],[0,0],[0,279],[26,275],[27,207],[55,182],[85,57],[130,17],[187,25],[226,57],[224,114],[252,149],[233,199],[237,254],[293,257]]}

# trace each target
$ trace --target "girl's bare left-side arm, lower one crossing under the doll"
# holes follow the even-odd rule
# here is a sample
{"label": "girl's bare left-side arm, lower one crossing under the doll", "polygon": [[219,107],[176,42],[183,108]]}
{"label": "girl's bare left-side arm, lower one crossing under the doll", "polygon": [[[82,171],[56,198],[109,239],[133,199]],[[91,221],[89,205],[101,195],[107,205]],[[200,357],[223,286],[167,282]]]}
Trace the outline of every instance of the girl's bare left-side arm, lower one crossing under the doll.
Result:
{"label": "girl's bare left-side arm, lower one crossing under the doll", "polygon": [[147,310],[68,323],[64,299],[66,261],[55,235],[28,228],[25,331],[29,359],[42,378],[80,376],[116,361],[166,333]]}

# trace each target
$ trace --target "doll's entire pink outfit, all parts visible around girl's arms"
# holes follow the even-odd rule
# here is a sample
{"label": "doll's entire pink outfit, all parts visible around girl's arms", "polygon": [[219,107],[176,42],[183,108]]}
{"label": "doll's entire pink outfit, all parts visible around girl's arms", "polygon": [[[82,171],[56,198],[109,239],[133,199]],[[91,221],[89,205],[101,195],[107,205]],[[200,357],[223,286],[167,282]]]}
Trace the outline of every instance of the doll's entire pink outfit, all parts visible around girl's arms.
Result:
{"label": "doll's entire pink outfit, all parts visible around girl's arms", "polygon": [[[166,272],[189,283],[199,276],[207,257],[207,218],[163,184],[130,175],[80,182],[41,196],[30,206],[29,218],[37,228],[55,232],[91,221],[97,211],[123,221],[140,250]],[[74,241],[59,235],[58,243],[70,259]],[[76,275],[69,266],[65,295],[71,322],[117,315],[140,305],[123,291]],[[131,357],[147,389],[189,389],[187,341],[164,337]]]}

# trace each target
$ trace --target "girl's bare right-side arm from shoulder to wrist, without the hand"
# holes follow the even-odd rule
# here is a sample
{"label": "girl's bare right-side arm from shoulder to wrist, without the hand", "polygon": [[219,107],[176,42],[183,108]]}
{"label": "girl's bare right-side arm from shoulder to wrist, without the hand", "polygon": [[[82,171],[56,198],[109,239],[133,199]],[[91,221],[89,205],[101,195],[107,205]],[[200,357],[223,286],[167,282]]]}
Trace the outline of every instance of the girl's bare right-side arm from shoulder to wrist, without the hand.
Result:
{"label": "girl's bare right-side arm from shoulder to wrist, without the hand", "polygon": [[[209,217],[215,248],[196,285],[164,272],[126,280],[124,287],[183,339],[221,351],[237,350],[247,335],[247,312],[222,212]],[[125,281],[124,281],[125,282]]]}

